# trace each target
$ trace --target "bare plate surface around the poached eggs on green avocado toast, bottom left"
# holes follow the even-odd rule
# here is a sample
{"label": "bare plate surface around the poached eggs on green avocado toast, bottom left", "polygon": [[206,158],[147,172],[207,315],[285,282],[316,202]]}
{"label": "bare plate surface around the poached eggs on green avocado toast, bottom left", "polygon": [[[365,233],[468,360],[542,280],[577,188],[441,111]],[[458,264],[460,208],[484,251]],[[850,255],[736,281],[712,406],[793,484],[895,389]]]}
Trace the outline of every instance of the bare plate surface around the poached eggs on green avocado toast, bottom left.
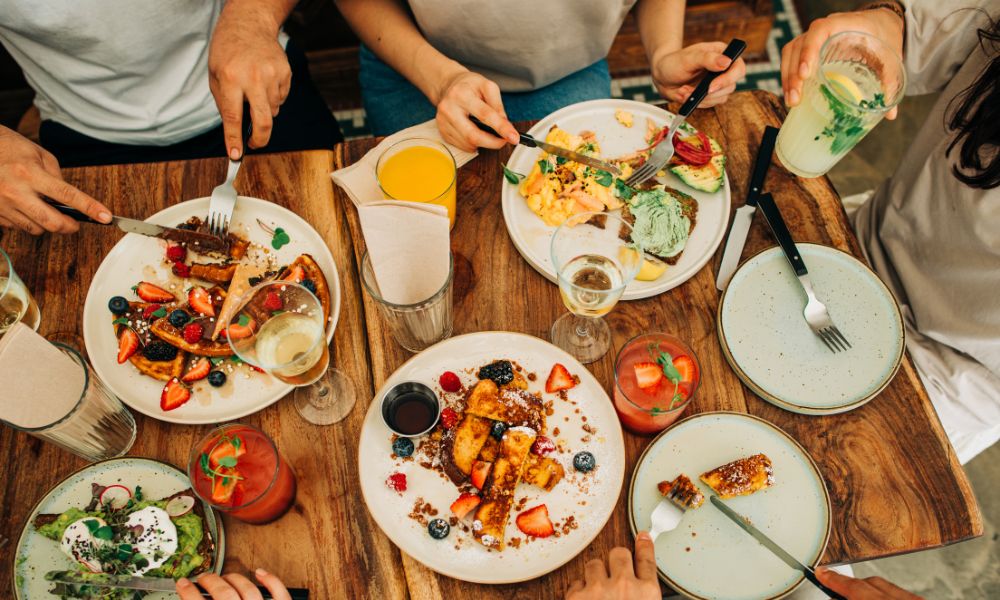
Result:
{"label": "bare plate surface around the poached eggs on green avocado toast, bottom left", "polygon": [[[45,581],[49,571],[64,571],[73,561],[59,549],[59,543],[50,540],[31,525],[39,514],[59,514],[70,507],[83,508],[90,503],[90,484],[121,484],[135,490],[142,486],[147,498],[166,498],[191,487],[187,475],[173,465],[151,458],[113,458],[88,465],[55,485],[31,510],[17,540],[11,572],[14,576],[14,594],[18,600],[54,598],[48,593],[52,583]],[[222,572],[226,555],[226,538],[219,519],[212,507],[205,509],[206,529],[215,540],[215,563],[209,571]],[[149,600],[176,598],[173,594],[155,593]]]}

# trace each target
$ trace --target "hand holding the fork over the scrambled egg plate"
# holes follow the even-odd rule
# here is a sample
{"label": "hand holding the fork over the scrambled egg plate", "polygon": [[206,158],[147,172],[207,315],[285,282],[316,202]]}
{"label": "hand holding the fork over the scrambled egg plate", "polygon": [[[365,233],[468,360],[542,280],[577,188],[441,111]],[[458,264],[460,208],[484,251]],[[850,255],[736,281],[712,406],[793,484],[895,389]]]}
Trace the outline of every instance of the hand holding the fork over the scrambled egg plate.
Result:
{"label": "hand holding the fork over the scrambled egg plate", "polygon": [[[656,89],[671,102],[687,100],[706,71],[723,71],[732,63],[722,54],[725,49],[726,44],[722,42],[702,42],[654,56],[652,72]],[[736,91],[736,82],[743,79],[746,72],[743,59],[736,59],[731,69],[715,78],[699,107],[708,108],[728,100]]]}

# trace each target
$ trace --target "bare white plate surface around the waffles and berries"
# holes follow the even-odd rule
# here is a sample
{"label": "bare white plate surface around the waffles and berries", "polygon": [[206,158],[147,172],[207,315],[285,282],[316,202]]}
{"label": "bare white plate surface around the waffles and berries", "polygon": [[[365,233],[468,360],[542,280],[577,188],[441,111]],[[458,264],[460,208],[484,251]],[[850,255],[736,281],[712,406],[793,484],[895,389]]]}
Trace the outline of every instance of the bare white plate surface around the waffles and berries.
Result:
{"label": "bare white plate surface around the waffles and berries", "polygon": [[[208,214],[208,202],[209,198],[181,202],[146,220],[175,227],[192,216],[204,219]],[[302,253],[309,253],[323,270],[330,287],[331,304],[327,339],[332,339],[340,316],[340,279],[323,238],[290,210],[266,200],[240,196],[233,211],[232,231],[270,248],[271,236],[261,229],[256,219],[288,232],[291,241],[280,250],[272,249],[279,265],[292,262]],[[283,398],[292,386],[264,373],[254,373],[246,378],[244,370],[240,369],[221,388],[210,386],[205,379],[196,382],[187,404],[164,412],[160,410],[163,382],[141,375],[131,364],[118,364],[118,340],[111,327],[108,300],[112,296],[134,298],[130,290],[139,281],[163,284],[176,280],[164,260],[164,251],[163,241],[130,233],[115,244],[94,274],[83,307],[83,339],[90,362],[101,380],[122,402],[135,410],[154,419],[187,425],[237,419]]]}

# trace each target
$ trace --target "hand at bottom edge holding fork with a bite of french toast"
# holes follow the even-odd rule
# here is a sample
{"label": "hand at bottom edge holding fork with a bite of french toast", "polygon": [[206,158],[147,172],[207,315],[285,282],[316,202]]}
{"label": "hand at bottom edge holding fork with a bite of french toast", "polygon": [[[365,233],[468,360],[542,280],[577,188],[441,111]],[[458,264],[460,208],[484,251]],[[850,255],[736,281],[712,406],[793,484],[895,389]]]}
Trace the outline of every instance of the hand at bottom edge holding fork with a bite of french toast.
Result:
{"label": "hand at bottom edge holding fork with a bite of french toast", "polygon": [[586,585],[579,580],[573,582],[566,600],[660,600],[661,597],[653,538],[645,531],[635,538],[634,565],[628,548],[612,548],[607,568],[603,560],[595,559],[587,563],[583,574]]}

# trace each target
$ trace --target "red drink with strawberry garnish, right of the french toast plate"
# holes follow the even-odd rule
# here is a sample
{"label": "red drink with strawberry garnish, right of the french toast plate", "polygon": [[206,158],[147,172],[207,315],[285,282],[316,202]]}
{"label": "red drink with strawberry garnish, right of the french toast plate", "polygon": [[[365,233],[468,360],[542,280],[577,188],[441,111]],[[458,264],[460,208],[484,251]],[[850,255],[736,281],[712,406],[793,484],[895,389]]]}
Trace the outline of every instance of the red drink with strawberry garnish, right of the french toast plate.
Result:
{"label": "red drink with strawberry garnish, right of the french toast plate", "polygon": [[[665,356],[669,358],[664,359]],[[682,366],[680,380],[675,383],[667,373],[663,373],[655,387],[639,387],[636,365],[653,363],[662,372],[663,362],[658,362],[658,359]],[[667,370],[670,370],[669,367]],[[681,417],[700,381],[698,359],[687,344],[668,333],[638,335],[622,346],[615,360],[615,410],[618,418],[632,433],[658,433]]]}

